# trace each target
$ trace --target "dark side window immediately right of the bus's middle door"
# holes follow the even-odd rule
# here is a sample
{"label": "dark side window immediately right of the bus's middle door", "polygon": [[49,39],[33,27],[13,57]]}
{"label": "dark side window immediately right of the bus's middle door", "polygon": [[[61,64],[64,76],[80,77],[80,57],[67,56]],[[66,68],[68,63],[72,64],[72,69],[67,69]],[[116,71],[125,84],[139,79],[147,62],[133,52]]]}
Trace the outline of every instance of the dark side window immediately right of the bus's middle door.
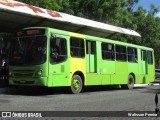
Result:
{"label": "dark side window immediately right of the bus's middle door", "polygon": [[109,43],[102,43],[102,59],[104,60],[114,60],[114,45]]}

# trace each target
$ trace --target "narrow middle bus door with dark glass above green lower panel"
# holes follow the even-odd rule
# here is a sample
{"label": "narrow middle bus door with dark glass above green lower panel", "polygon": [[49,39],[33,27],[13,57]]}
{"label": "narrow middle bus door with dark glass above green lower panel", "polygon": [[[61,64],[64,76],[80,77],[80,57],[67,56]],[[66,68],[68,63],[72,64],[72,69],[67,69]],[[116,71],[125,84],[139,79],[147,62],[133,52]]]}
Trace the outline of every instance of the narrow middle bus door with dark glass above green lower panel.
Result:
{"label": "narrow middle bus door with dark glass above green lower panel", "polygon": [[87,73],[96,73],[96,42],[86,41],[87,47]]}

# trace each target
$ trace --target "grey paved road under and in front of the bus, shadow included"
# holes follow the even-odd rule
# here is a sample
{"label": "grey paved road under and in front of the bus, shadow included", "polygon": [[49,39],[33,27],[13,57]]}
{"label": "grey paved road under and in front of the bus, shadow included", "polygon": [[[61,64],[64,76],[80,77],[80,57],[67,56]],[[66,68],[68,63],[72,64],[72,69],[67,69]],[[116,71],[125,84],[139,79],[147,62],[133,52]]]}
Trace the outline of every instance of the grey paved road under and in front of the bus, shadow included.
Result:
{"label": "grey paved road under and in front of the bus, shadow included", "polygon": [[[0,111],[154,111],[160,86],[91,88],[81,94],[43,88],[0,88]],[[159,103],[160,104],[160,103]]]}

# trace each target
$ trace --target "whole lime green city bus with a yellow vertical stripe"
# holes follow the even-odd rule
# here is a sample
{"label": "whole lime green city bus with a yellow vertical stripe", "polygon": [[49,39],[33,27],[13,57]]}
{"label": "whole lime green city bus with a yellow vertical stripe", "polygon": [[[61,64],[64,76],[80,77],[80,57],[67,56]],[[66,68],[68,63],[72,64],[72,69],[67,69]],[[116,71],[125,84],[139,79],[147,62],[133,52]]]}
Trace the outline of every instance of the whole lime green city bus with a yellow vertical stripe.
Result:
{"label": "whole lime green city bus with a yellow vertical stripe", "polygon": [[48,27],[16,32],[11,40],[9,85],[68,87],[134,84],[155,80],[154,50]]}

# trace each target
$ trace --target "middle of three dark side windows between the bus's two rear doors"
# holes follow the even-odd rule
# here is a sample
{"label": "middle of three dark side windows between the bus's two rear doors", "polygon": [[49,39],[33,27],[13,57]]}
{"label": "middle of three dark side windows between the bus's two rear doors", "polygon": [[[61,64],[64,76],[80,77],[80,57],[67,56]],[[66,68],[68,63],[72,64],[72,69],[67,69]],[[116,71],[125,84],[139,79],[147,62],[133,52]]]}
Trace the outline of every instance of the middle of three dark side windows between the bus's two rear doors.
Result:
{"label": "middle of three dark side windows between the bus's two rear doors", "polygon": [[116,45],[116,60],[126,61],[126,47]]}

